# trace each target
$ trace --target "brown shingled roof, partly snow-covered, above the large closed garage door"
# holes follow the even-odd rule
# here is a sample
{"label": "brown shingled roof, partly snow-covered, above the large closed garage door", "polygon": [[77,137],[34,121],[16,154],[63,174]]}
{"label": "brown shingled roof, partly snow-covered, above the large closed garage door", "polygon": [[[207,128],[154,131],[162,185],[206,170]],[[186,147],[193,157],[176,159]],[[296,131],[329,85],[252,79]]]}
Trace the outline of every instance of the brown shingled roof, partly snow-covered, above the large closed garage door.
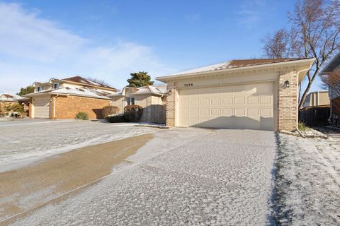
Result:
{"label": "brown shingled roof, partly snow-covered, above the large closed garage door", "polygon": [[226,61],[219,64],[212,64],[208,66],[203,66],[197,69],[191,69],[186,71],[180,71],[177,73],[172,73],[166,76],[156,78],[162,81],[162,78],[186,76],[191,74],[208,73],[213,71],[225,71],[228,69],[236,69],[250,66],[261,66],[266,64],[277,64],[285,63],[289,61],[301,61],[301,60],[312,60],[313,58],[280,58],[280,59],[234,59],[232,61]]}

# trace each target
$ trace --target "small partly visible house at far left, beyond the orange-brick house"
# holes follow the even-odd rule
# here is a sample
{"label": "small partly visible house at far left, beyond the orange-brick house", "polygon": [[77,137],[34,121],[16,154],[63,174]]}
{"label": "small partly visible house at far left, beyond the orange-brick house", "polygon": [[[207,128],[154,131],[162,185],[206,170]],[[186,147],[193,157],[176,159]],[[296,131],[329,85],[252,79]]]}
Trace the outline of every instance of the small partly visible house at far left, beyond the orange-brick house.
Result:
{"label": "small partly visible house at far left, beyond the orange-brick house", "polygon": [[[28,113],[29,99],[11,93],[0,94],[0,116],[9,116],[13,110],[9,109],[13,105],[23,105],[24,112]],[[8,110],[9,109],[9,110]]]}

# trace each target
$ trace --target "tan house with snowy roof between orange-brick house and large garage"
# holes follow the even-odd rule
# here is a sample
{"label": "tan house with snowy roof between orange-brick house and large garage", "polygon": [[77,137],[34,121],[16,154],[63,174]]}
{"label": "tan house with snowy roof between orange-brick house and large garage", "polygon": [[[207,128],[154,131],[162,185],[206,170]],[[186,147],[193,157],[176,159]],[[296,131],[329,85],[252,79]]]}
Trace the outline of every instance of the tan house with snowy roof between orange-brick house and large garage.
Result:
{"label": "tan house with snowy roof between orange-brick house and large garage", "polygon": [[166,119],[166,85],[147,85],[140,88],[126,86],[121,93],[109,95],[111,105],[123,113],[128,105],[140,105],[143,114],[140,121],[164,123]]}

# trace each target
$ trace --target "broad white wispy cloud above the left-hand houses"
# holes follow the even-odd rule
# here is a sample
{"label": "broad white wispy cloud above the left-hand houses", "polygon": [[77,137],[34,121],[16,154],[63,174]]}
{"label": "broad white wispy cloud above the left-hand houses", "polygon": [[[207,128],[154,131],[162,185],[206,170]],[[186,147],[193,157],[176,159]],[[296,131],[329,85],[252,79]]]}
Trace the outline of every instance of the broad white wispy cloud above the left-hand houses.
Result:
{"label": "broad white wispy cloud above the left-hand houses", "polygon": [[20,4],[0,3],[0,21],[0,93],[73,75],[104,79],[121,88],[132,71],[172,71],[152,47],[119,39],[98,44]]}

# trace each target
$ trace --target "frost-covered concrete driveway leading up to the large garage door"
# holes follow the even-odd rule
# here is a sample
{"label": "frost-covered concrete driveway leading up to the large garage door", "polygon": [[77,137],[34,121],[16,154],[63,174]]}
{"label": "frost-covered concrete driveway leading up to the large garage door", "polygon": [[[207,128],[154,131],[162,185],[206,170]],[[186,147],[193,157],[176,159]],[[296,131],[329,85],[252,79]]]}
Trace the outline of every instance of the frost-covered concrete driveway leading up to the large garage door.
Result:
{"label": "frost-covered concrete driveway leading up to the large garage door", "polygon": [[131,164],[13,225],[266,225],[273,132],[171,129]]}

